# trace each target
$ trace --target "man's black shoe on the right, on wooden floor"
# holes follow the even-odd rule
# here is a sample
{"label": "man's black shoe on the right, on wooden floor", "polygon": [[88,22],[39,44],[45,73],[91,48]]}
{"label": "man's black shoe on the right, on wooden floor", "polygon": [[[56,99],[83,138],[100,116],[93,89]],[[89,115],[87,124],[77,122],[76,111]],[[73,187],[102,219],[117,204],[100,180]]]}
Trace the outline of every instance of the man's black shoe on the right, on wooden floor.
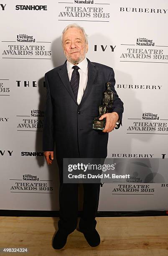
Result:
{"label": "man's black shoe on the right, on wooden floor", "polygon": [[[79,229],[80,232],[82,232]],[[84,234],[84,237],[86,238],[87,242],[89,243],[89,246],[95,247],[98,246],[100,243],[100,236],[96,229],[92,231],[82,232]]]}

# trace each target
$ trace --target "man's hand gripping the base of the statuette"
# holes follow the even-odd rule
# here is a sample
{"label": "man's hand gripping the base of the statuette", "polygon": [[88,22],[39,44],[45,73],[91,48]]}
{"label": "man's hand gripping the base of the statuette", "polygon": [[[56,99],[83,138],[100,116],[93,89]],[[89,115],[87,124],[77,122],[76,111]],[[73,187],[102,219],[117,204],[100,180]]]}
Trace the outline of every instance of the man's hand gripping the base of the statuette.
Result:
{"label": "man's hand gripping the base of the statuette", "polygon": [[102,130],[104,133],[109,133],[114,130],[115,125],[118,121],[119,115],[117,112],[112,112],[112,113],[106,113],[104,115],[101,115],[99,120],[102,120],[103,118],[106,118],[106,125],[104,130]]}

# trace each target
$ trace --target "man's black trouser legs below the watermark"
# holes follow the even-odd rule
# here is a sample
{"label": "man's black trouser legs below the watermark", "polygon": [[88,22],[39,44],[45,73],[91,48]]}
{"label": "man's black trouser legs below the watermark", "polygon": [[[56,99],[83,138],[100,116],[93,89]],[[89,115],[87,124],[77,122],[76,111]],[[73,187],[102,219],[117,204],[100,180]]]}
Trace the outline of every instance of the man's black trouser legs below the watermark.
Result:
{"label": "man's black trouser legs below the watermark", "polygon": [[[78,220],[78,184],[63,183],[63,168],[59,165],[59,230],[71,233],[76,229]],[[93,230],[96,227],[97,209],[99,205],[100,183],[83,183],[83,212],[79,221],[81,231]]]}

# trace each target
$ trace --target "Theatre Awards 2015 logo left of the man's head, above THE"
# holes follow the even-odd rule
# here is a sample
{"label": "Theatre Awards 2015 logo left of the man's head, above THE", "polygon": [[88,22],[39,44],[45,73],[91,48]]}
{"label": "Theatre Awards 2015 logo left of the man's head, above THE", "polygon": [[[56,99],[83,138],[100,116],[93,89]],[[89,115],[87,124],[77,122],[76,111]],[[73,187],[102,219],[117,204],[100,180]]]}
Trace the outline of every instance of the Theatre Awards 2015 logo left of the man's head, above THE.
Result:
{"label": "Theatre Awards 2015 logo left of the man's head, above THE", "polygon": [[[36,38],[34,38],[33,35],[28,35],[28,34],[18,34],[16,35],[15,38],[16,41],[13,42],[18,42],[21,44],[11,44],[10,41],[2,41],[3,44],[6,44],[4,46],[3,51],[2,51],[2,58],[28,58],[32,57],[33,59],[51,59],[51,51],[48,50],[48,43],[51,43],[49,41],[38,41]],[[36,44],[31,44],[35,43]],[[30,44],[26,44],[30,43]],[[38,44],[39,43],[39,44]],[[41,43],[45,43],[45,45],[42,45]],[[49,57],[49,58],[48,58]]]}

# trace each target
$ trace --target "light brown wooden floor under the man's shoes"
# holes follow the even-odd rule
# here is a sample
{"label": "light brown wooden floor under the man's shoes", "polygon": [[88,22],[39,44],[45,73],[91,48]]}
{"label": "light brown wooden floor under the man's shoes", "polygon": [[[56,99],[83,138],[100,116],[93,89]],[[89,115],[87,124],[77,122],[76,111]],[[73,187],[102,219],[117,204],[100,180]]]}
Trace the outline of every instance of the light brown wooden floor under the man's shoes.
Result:
{"label": "light brown wooden floor under the man's shoes", "polygon": [[0,217],[0,248],[28,248],[30,256],[168,256],[168,216],[97,218],[99,246],[90,247],[75,230],[66,246],[54,250],[51,241],[58,218]]}

